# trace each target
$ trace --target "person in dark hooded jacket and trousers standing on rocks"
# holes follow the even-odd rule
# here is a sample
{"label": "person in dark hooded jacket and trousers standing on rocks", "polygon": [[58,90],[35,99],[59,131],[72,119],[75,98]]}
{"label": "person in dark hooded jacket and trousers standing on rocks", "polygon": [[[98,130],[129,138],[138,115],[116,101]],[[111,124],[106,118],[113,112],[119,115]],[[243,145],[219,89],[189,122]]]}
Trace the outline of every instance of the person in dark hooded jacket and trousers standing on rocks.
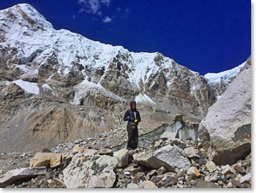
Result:
{"label": "person in dark hooded jacket and trousers standing on rocks", "polygon": [[138,143],[138,125],[141,121],[140,112],[136,109],[136,102],[130,102],[130,110],[126,111],[123,116],[123,121],[128,121],[127,132],[128,132],[128,144],[127,149],[133,150],[137,148]]}

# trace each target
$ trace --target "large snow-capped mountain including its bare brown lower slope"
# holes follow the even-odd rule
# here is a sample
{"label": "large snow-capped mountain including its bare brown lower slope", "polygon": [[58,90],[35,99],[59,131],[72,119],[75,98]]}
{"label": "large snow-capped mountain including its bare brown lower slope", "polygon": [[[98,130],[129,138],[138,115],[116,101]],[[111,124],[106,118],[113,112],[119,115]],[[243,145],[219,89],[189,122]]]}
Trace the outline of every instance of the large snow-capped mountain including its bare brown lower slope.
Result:
{"label": "large snow-capped mountain including its bare brown lower slope", "polygon": [[24,3],[0,10],[0,57],[2,149],[52,147],[123,128],[130,100],[144,130],[176,114],[200,121],[216,102],[206,79],[173,59],[56,30]]}

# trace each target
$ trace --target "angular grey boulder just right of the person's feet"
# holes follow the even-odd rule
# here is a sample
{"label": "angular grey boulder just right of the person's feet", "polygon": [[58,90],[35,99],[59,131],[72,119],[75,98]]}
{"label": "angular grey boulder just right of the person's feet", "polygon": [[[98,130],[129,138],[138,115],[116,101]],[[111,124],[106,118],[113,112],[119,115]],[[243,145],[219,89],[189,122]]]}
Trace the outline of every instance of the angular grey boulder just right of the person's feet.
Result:
{"label": "angular grey boulder just right of the person's feet", "polygon": [[164,146],[153,153],[136,153],[133,155],[134,162],[142,164],[150,169],[165,167],[167,171],[190,168],[190,161],[184,150],[178,146]]}

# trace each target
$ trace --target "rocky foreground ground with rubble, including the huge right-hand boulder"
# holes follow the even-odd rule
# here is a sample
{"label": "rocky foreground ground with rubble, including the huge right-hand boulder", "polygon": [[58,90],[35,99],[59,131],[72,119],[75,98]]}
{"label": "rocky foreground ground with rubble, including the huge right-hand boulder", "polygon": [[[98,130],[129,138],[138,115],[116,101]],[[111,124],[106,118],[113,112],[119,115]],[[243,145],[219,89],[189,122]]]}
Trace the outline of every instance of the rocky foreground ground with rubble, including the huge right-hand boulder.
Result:
{"label": "rocky foreground ground with rubble, including the huge right-hand boulder", "polygon": [[140,130],[136,150],[119,128],[38,153],[1,153],[0,187],[251,188],[250,80],[251,68],[242,70],[199,125],[177,115]]}

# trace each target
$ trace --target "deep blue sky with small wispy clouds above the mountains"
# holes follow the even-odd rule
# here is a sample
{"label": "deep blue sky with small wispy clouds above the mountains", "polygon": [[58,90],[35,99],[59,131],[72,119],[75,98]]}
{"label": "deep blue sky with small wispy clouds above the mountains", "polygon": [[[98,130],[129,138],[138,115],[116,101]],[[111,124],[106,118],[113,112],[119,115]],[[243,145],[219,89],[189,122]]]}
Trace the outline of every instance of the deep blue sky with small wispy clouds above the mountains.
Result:
{"label": "deep blue sky with small wispy clouds above the mountains", "polygon": [[160,52],[201,75],[234,68],[251,54],[248,0],[8,0],[0,9],[17,3],[31,4],[55,29]]}

